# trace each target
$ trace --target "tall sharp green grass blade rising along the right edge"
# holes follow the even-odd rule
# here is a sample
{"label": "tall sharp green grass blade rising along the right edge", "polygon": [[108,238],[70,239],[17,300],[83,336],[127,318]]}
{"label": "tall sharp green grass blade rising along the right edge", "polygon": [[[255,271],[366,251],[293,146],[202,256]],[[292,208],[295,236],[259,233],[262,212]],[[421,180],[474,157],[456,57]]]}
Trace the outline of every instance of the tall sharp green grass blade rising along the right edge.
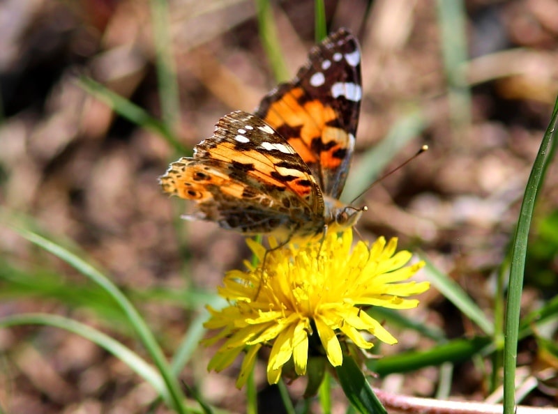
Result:
{"label": "tall sharp green grass blade rising along the right edge", "polygon": [[510,283],[506,306],[506,327],[504,331],[504,414],[515,411],[515,364],[518,353],[518,330],[520,319],[520,302],[523,288],[527,238],[533,217],[534,204],[538,190],[543,187],[545,172],[555,153],[555,128],[558,122],[558,98],[555,102],[552,118],[536,155],[525,196],[521,204],[518,227],[513,238],[511,255]]}

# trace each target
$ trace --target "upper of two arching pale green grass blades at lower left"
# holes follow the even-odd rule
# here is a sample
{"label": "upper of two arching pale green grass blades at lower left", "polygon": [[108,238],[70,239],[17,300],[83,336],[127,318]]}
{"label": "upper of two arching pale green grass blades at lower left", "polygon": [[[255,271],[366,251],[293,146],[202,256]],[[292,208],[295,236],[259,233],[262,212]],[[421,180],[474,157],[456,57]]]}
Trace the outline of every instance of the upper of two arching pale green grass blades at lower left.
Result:
{"label": "upper of two arching pale green grass blades at lower left", "polygon": [[135,330],[137,336],[144,344],[146,351],[149,353],[151,358],[153,358],[153,362],[160,371],[161,376],[163,376],[163,380],[165,381],[165,385],[168,388],[172,400],[172,407],[178,413],[188,413],[186,406],[183,404],[183,395],[181,393],[179,383],[176,381],[176,378],[172,376],[170,367],[165,360],[165,355],[163,355],[163,351],[157,344],[155,337],[153,337],[153,333],[149,330],[146,323],[135,307],[133,307],[130,303],[128,298],[123,295],[123,293],[110,281],[110,279],[100,273],[89,263],[82,260],[80,257],[66,249],[63,249],[61,246],[56,245],[56,243],[52,243],[50,240],[47,240],[36,233],[32,233],[31,231],[16,227],[12,228],[23,238],[26,238],[31,243],[38,245],[43,248],[43,250],[54,254],[54,256],[58,257],[62,261],[65,261],[70,266],[73,266],[73,268],[82,273],[82,275],[89,277],[89,279],[101,286],[116,301],[119,307],[123,310],[124,314],[128,317],[131,327]]}

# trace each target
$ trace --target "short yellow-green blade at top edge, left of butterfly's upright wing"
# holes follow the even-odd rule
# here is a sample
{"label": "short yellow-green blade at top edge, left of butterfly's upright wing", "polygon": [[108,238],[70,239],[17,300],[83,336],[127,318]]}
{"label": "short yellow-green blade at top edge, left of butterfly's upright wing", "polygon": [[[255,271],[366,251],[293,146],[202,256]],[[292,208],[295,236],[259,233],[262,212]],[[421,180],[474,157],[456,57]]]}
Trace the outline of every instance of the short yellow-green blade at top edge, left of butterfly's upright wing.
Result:
{"label": "short yellow-green blade at top edge, left of butterfly's upright wing", "polygon": [[267,54],[267,59],[271,64],[271,70],[276,82],[287,82],[289,80],[289,71],[285,64],[285,59],[281,53],[281,47],[277,36],[277,28],[273,22],[273,13],[271,10],[271,1],[255,0],[257,10],[257,22],[259,26],[259,38],[262,39],[262,45]]}

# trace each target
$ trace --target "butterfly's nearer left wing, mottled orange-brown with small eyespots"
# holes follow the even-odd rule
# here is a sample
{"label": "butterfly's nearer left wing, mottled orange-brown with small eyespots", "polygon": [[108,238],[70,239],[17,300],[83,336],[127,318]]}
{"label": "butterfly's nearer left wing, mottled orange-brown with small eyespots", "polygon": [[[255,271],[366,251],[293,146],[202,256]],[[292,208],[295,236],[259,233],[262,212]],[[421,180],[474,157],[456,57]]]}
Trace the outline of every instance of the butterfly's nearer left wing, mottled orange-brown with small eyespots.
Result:
{"label": "butterfly's nearer left wing, mottled orange-brown with small eyespots", "polygon": [[247,235],[322,225],[324,200],[308,166],[273,128],[246,112],[221,118],[194,157],[173,162],[160,183],[165,192],[196,201],[197,212],[186,218]]}

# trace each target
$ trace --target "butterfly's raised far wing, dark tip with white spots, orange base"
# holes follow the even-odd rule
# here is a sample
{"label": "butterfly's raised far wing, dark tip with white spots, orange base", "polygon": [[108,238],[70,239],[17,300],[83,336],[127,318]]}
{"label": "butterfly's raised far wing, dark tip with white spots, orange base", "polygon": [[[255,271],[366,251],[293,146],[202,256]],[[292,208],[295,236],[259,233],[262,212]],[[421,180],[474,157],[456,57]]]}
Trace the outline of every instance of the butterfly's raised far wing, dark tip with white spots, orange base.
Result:
{"label": "butterfly's raised far wing, dark tip with white spots, orange base", "polygon": [[263,118],[301,156],[324,194],[338,199],[354,151],[361,105],[361,55],[340,29],[312,48],[296,77],[260,102]]}

